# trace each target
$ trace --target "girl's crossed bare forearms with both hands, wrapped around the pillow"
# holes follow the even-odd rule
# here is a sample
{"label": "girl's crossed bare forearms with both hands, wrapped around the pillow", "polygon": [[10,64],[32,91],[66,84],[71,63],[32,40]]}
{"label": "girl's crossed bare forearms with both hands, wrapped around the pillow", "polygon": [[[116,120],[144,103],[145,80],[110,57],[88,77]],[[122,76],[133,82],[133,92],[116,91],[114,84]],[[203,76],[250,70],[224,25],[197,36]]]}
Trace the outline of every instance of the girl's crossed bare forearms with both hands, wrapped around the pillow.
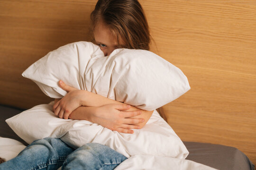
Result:
{"label": "girl's crossed bare forearms with both hands, wrapped around the pillow", "polygon": [[131,128],[143,127],[153,113],[99,94],[77,90],[62,81],[59,85],[68,92],[61,100],[55,100],[55,114],[60,118],[85,119],[111,130],[130,133]]}

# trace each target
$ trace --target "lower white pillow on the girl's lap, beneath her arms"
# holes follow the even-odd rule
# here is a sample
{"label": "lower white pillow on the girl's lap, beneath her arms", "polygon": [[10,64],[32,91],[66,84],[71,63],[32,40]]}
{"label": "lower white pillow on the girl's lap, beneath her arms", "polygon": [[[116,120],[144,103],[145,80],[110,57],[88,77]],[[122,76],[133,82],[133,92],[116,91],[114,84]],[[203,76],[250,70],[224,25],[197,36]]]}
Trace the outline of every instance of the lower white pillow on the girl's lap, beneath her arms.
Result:
{"label": "lower white pillow on the girl's lap, beneath her arms", "polygon": [[52,107],[53,102],[41,104],[6,122],[28,144],[51,136],[61,138],[73,148],[87,143],[105,144],[126,157],[143,154],[185,159],[188,155],[181,139],[156,110],[142,129],[123,134],[86,120],[59,119]]}

